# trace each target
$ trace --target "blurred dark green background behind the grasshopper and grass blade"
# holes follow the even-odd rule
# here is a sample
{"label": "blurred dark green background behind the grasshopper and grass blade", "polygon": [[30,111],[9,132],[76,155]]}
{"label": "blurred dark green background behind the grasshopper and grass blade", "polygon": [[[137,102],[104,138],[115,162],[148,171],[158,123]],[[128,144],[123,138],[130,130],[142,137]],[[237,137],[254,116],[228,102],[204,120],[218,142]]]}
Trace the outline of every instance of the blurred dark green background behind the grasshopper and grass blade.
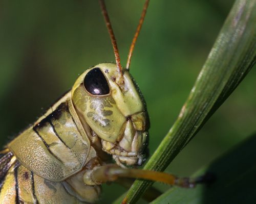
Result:
{"label": "blurred dark green background behind the grasshopper and grass blade", "polygon": [[[123,65],[143,2],[106,1]],[[150,114],[151,154],[177,118],[232,3],[151,1],[131,63]],[[114,61],[114,54],[97,1],[0,1],[1,145],[35,121],[79,73],[105,61]],[[167,172],[190,175],[255,132],[255,75],[252,69]],[[99,202],[124,192],[117,185],[103,188]]]}

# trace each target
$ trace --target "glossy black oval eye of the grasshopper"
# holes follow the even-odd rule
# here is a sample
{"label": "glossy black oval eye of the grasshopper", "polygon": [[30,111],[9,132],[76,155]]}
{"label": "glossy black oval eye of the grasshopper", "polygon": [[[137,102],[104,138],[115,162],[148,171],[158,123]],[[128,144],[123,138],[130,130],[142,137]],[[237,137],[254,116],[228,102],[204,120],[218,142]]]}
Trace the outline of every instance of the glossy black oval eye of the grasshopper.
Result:
{"label": "glossy black oval eye of the grasshopper", "polygon": [[93,95],[106,95],[110,93],[110,87],[100,68],[96,67],[86,74],[83,81],[86,90]]}

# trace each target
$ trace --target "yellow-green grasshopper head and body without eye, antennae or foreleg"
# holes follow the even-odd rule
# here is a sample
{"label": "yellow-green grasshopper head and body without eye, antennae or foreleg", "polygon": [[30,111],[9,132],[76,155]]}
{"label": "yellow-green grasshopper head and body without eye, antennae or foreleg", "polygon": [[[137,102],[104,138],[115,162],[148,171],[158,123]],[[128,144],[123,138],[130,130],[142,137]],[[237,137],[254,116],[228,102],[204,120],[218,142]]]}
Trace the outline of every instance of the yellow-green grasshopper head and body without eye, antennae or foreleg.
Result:
{"label": "yellow-green grasshopper head and body without eye, antennae or foreleg", "polygon": [[[100,69],[110,91],[93,95],[87,74]],[[142,96],[128,71],[124,87],[115,82],[116,65],[86,70],[47,113],[18,135],[0,158],[0,203],[95,202],[100,184],[91,178],[110,162],[141,164],[148,118]]]}

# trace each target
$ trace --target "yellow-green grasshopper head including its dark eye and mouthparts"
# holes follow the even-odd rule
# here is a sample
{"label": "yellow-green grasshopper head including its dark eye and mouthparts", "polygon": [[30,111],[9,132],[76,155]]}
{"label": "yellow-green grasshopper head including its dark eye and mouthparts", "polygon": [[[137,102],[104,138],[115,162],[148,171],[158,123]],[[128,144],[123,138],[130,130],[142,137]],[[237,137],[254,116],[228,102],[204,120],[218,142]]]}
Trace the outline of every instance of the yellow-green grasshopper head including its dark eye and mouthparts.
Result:
{"label": "yellow-green grasshopper head including its dark eye and mouthparts", "polygon": [[129,71],[123,71],[121,88],[116,83],[115,64],[102,63],[86,70],[73,86],[72,101],[83,125],[101,138],[102,149],[117,164],[140,165],[149,120],[140,90]]}

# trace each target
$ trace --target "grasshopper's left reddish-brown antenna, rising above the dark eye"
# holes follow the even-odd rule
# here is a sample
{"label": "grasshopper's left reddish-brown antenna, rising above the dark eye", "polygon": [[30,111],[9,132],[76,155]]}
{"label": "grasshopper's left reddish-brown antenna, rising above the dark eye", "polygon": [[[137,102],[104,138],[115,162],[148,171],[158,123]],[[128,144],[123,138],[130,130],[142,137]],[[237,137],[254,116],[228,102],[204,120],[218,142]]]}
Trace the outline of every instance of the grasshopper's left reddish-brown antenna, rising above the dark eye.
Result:
{"label": "grasshopper's left reddish-brown antenna, rising above the dark eye", "polygon": [[110,34],[110,39],[111,39],[112,46],[113,46],[113,49],[114,49],[114,54],[115,54],[115,59],[116,59],[116,65],[117,65],[117,68],[118,68],[118,72],[121,74],[121,78],[122,78],[122,66],[121,66],[121,63],[120,63],[120,57],[119,57],[119,52],[118,52],[118,48],[117,48],[116,38],[115,38],[114,31],[113,31],[112,26],[111,26],[108,11],[106,11],[106,5],[105,5],[104,0],[99,0],[99,4],[100,4],[102,14],[104,16],[104,20],[105,20],[105,23],[106,23],[106,28],[108,29],[109,34]]}

